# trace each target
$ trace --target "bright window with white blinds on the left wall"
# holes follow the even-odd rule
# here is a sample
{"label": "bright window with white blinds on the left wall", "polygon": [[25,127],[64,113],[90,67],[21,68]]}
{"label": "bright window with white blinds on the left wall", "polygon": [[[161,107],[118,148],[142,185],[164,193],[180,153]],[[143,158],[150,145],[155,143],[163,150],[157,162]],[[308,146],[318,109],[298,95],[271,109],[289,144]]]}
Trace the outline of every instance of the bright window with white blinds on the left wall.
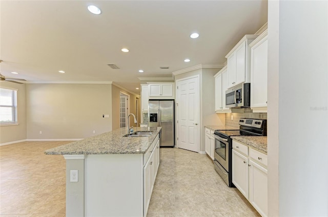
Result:
{"label": "bright window with white blinds on the left wall", "polygon": [[0,88],[0,124],[17,123],[17,91]]}

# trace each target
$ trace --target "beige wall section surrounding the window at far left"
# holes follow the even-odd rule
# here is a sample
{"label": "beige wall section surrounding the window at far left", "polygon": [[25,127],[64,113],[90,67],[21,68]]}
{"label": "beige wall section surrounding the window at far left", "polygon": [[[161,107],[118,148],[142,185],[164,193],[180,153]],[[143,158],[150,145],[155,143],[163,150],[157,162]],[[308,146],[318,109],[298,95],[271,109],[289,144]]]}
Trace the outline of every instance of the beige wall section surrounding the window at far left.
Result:
{"label": "beige wall section surrounding the window at far left", "polygon": [[0,126],[0,144],[26,139],[26,84],[0,82],[0,88],[17,90],[18,125]]}

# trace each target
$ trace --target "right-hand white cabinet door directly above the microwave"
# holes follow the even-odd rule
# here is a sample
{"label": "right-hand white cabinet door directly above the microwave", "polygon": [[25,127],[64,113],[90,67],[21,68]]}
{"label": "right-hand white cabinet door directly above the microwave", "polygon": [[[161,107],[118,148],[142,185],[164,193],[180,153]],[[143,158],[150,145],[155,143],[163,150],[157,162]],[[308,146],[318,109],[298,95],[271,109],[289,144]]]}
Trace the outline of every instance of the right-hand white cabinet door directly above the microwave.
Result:
{"label": "right-hand white cabinet door directly above the microwave", "polygon": [[236,80],[234,85],[245,82],[246,73],[246,41],[236,50]]}

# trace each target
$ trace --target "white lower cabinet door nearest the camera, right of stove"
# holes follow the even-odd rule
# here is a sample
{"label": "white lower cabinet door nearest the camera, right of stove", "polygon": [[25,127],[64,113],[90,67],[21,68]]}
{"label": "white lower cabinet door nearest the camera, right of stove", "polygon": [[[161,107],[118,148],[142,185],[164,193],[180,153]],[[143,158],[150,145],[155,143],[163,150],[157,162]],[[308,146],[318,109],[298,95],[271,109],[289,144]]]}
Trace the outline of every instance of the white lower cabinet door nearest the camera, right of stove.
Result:
{"label": "white lower cabinet door nearest the camera, right of stove", "polygon": [[250,160],[249,177],[249,201],[262,216],[268,216],[268,169]]}

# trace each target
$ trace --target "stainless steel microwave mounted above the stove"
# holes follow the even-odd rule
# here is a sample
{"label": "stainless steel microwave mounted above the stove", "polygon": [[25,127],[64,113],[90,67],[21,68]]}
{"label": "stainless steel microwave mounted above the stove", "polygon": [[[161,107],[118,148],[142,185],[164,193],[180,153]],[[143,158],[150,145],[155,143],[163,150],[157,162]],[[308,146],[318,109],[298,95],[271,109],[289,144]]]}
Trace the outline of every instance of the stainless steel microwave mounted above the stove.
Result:
{"label": "stainless steel microwave mounted above the stove", "polygon": [[226,107],[250,107],[251,83],[241,83],[226,91]]}

